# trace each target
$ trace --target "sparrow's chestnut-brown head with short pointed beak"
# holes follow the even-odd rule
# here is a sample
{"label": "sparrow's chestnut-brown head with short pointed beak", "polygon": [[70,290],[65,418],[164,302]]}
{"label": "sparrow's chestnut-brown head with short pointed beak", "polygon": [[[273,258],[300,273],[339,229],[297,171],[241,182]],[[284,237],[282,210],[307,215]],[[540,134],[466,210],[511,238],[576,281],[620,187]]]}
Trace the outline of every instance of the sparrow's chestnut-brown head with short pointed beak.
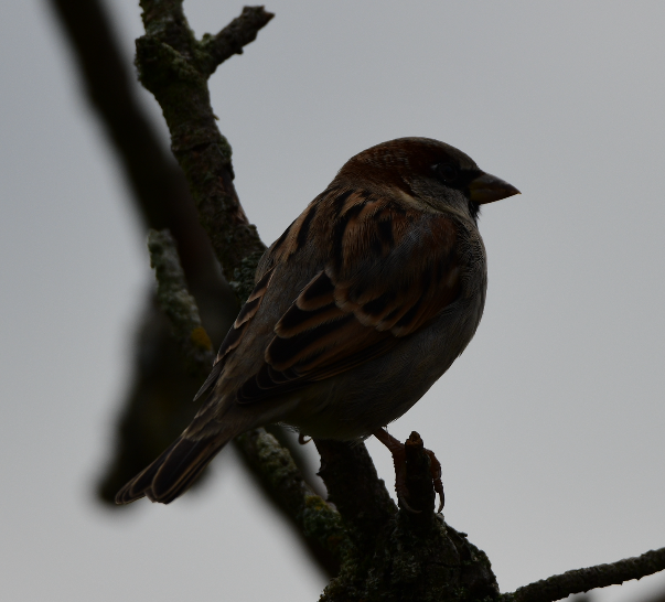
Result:
{"label": "sparrow's chestnut-brown head with short pointed beak", "polygon": [[474,221],[481,205],[519,194],[512,184],[482,171],[468,154],[430,138],[398,138],[364,150],[335,180],[364,182],[435,211],[468,213]]}

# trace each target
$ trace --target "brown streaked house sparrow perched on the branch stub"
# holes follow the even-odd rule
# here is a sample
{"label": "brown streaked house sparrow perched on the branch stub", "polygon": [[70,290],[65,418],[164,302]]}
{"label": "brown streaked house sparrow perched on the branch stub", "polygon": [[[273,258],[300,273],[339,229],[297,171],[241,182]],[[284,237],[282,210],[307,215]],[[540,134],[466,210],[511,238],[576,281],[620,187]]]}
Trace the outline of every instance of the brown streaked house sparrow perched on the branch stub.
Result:
{"label": "brown streaked house sparrow perched on the branch stub", "polygon": [[261,258],[192,423],[116,502],[172,502],[228,441],[270,422],[376,434],[398,453],[383,427],[450,367],[483,313],[480,206],[518,193],[427,138],[353,157]]}

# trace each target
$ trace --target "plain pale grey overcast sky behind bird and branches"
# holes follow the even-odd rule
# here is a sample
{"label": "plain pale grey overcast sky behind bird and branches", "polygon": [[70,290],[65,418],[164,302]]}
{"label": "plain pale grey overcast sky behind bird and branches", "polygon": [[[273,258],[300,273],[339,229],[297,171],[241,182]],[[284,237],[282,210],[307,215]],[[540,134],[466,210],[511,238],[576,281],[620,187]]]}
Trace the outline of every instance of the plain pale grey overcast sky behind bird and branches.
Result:
{"label": "plain pale grey overcast sky behind bird and branches", "polygon": [[[110,8],[131,61],[139,9]],[[185,2],[200,35],[240,9]],[[502,591],[665,546],[665,4],[267,9],[211,82],[265,241],[346,159],[401,136],[459,147],[523,192],[483,211],[475,340],[390,429],[436,450],[446,519]],[[317,600],[323,578],[232,452],[172,506],[95,501],[152,282],[144,233],[44,2],[1,3],[0,82],[2,598]],[[369,451],[392,483],[388,452]],[[593,599],[658,588],[662,573]]]}

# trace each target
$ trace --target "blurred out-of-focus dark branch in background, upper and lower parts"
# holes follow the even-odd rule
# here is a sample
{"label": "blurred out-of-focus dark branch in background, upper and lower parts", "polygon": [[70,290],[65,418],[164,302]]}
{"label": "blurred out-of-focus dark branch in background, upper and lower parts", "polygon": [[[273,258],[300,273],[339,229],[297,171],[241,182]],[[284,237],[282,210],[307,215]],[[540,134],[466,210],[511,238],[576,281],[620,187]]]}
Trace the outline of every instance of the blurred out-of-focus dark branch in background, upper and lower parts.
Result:
{"label": "blurred out-of-focus dark branch in background, upper and lower parts", "polygon": [[[222,278],[184,174],[139,103],[133,69],[105,7],[100,0],[50,3],[71,44],[82,88],[127,179],[128,201],[142,228],[169,228],[178,241],[187,288],[196,298],[207,333],[218,344],[237,313],[236,295]],[[185,370],[170,324],[152,294],[147,295],[139,322],[129,359],[131,381],[112,456],[98,485],[101,499],[109,504],[118,488],[191,421],[196,408],[190,400],[201,386],[201,378]]]}

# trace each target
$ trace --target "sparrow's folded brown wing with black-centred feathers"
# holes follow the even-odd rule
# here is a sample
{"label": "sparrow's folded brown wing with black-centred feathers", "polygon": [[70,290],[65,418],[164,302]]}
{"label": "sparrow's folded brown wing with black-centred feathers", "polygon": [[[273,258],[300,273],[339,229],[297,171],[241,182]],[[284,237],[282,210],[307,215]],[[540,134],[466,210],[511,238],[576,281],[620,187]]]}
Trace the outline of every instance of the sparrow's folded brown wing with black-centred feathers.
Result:
{"label": "sparrow's folded brown wing with black-centred feathers", "polygon": [[[260,368],[237,389],[240,404],[298,389],[383,355],[460,295],[461,258],[451,218],[358,192],[337,192],[331,198],[328,211],[325,202],[312,204],[294,222],[290,229],[298,232],[289,233],[287,251],[279,245],[271,249],[273,266],[297,261],[305,250],[298,248],[298,241],[305,245],[300,234],[308,227],[308,241],[328,248],[328,260],[275,324]],[[312,215],[317,211],[320,215]],[[275,269],[262,275],[240,311],[223,343],[221,363],[251,329],[262,298],[277,284]]]}

